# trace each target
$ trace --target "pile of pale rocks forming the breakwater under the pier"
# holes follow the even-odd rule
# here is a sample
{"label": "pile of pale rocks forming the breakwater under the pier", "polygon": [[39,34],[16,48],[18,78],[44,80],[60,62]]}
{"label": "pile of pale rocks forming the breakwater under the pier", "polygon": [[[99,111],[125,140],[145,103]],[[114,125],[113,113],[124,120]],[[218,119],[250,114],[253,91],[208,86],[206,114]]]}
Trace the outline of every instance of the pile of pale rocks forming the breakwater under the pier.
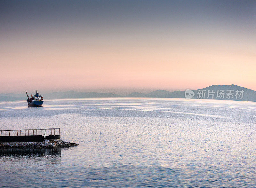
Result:
{"label": "pile of pale rocks forming the breakwater under the pier", "polygon": [[0,148],[52,148],[52,147],[72,147],[78,146],[76,143],[66,142],[65,140],[43,142],[18,142],[18,143],[0,143]]}

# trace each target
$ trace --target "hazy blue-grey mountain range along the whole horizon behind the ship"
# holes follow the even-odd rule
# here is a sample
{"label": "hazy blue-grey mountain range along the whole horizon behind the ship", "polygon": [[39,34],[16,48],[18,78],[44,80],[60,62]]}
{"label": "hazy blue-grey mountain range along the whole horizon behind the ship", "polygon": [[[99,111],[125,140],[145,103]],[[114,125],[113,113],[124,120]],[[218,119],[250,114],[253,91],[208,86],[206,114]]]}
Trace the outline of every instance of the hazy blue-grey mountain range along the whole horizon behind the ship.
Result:
{"label": "hazy blue-grey mountain range along the whole horizon behind the ship", "polygon": [[[237,85],[212,85],[203,89],[192,90],[195,93],[194,98],[202,98],[199,92],[205,93],[203,99],[219,99],[219,100],[239,100],[239,101],[256,101],[256,91],[250,90]],[[228,92],[233,92],[231,97],[223,96],[223,98],[217,95],[217,91],[224,91],[228,96]],[[242,96],[236,96],[236,91],[243,91]],[[214,93],[212,96],[207,96],[207,93]],[[58,99],[58,98],[115,98],[115,97],[134,97],[134,98],[185,98],[185,91],[166,91],[156,90],[150,93],[138,93],[132,92],[129,95],[117,95],[113,93],[99,93],[99,92],[78,92],[78,91],[67,91],[67,92],[53,92],[53,93],[41,93],[44,99]],[[241,93],[240,93],[241,94]],[[23,97],[24,96],[24,97]],[[0,101],[14,101],[14,100],[26,100],[26,94],[13,94],[13,93],[2,93],[0,94]]]}

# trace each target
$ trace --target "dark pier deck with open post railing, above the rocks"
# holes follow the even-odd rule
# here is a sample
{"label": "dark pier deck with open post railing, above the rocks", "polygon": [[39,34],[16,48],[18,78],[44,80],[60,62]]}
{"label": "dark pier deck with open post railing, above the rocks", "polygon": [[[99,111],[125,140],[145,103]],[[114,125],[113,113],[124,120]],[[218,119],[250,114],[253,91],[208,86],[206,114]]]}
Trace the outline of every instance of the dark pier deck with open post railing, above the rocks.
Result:
{"label": "dark pier deck with open post railing, above the rocks", "polygon": [[60,128],[0,130],[0,142],[40,142],[44,139],[60,139]]}

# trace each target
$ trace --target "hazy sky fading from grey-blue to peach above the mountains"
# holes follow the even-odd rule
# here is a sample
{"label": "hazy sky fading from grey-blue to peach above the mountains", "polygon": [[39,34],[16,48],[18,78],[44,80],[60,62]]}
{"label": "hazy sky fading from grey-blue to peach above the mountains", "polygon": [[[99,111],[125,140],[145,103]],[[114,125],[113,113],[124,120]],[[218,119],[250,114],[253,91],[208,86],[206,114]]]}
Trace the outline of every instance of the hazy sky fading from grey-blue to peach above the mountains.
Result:
{"label": "hazy sky fading from grey-blue to peach above the mountains", "polygon": [[0,93],[256,90],[256,1],[0,0]]}

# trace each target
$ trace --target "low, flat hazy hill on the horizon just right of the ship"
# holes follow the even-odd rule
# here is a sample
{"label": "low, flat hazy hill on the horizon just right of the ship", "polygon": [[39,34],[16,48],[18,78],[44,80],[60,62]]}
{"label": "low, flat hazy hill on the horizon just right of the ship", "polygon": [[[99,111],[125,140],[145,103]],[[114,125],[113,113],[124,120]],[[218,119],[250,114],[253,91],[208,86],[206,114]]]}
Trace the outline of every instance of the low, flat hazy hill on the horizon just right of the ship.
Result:
{"label": "low, flat hazy hill on the horizon just right of the ship", "polygon": [[122,95],[116,95],[113,93],[84,93],[84,92],[78,92],[76,94],[71,95],[64,95],[61,98],[108,98],[108,97],[124,97]]}

